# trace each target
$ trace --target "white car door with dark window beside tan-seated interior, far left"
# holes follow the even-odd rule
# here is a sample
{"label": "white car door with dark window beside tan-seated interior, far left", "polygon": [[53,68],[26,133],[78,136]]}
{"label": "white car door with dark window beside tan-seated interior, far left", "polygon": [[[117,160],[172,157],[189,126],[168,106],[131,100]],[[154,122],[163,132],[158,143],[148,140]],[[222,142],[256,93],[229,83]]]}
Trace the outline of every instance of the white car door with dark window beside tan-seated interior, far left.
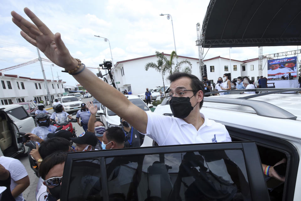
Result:
{"label": "white car door with dark window beside tan-seated interior, far left", "polygon": [[29,116],[24,107],[19,106],[5,111],[16,124],[20,132],[30,133],[35,127],[34,119]]}

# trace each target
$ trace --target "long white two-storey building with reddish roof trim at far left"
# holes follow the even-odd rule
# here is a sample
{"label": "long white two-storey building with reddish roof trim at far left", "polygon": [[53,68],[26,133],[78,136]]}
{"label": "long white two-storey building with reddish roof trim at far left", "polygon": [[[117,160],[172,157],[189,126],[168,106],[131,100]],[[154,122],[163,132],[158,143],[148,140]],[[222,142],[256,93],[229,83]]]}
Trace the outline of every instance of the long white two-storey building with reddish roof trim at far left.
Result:
{"label": "long white two-storey building with reddish roof trim at far left", "polygon": [[[8,105],[29,100],[47,101],[44,79],[32,79],[18,75],[0,73],[0,104]],[[61,80],[47,80],[51,100],[65,92]],[[49,102],[48,102],[49,103]]]}

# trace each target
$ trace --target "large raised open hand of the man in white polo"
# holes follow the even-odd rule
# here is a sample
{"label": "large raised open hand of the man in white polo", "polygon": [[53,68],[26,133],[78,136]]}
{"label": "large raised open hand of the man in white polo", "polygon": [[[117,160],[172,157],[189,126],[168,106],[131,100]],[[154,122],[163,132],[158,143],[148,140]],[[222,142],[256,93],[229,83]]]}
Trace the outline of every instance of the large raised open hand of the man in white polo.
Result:
{"label": "large raised open hand of the man in white polo", "polygon": [[24,19],[15,11],[11,12],[13,23],[22,30],[20,33],[23,38],[30,44],[38,47],[56,65],[67,70],[74,69],[78,65],[78,62],[71,57],[61,39],[61,34],[53,34],[29,8],[24,8],[24,12],[34,24]]}

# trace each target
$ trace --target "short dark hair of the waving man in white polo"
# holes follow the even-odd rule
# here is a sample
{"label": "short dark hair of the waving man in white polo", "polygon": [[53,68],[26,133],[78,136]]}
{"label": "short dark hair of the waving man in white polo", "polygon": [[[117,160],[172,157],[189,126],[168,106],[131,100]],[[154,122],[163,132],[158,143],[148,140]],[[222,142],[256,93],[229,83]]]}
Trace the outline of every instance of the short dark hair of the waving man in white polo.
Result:
{"label": "short dark hair of the waving man in white polo", "polygon": [[[191,89],[193,90],[194,93],[198,92],[199,90],[202,90],[203,93],[204,93],[204,84],[195,75],[192,75],[192,74],[189,74],[189,73],[173,73],[170,76],[168,76],[167,79],[170,82],[173,82],[173,81],[176,81],[177,79],[180,79],[182,77],[187,77],[187,78],[191,79],[190,86],[191,86]],[[200,108],[202,107],[203,102],[204,102],[204,99],[200,102]]]}

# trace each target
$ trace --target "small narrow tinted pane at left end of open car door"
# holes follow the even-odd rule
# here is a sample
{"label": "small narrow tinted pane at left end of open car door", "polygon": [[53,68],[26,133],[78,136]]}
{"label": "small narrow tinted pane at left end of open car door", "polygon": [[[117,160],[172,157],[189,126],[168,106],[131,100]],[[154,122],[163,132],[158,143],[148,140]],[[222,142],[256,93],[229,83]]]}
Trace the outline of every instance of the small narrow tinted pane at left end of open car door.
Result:
{"label": "small narrow tinted pane at left end of open car door", "polygon": [[99,160],[73,161],[68,200],[103,200]]}

